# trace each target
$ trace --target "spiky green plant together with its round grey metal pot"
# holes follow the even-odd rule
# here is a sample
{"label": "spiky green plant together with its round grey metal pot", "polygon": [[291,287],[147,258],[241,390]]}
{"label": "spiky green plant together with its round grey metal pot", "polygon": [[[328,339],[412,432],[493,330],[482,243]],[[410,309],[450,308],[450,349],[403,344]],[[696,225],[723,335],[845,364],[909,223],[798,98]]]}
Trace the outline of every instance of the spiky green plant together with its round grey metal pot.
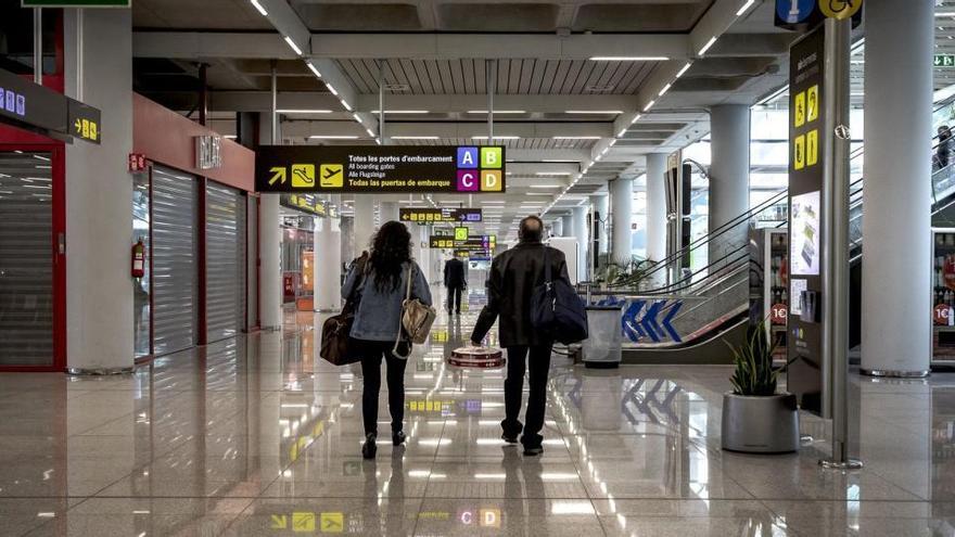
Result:
{"label": "spiky green plant together with its round grey metal pot", "polygon": [[795,451],[795,395],[776,393],[776,378],[782,368],[773,367],[776,345],[768,341],[765,320],[739,347],[728,346],[736,370],[729,380],[733,391],[723,394],[723,449],[748,453]]}

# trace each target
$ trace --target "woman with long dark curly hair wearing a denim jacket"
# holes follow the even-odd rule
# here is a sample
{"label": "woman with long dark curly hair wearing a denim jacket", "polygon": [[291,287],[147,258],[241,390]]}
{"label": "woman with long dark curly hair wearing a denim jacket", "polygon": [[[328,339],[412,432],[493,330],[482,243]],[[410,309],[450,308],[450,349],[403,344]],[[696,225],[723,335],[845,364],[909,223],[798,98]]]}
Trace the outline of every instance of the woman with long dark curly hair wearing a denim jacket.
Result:
{"label": "woman with long dark curly hair wearing a denim jacket", "polygon": [[[409,276],[409,270],[410,276]],[[431,291],[424,272],[411,259],[411,234],[404,223],[386,222],[372,241],[371,255],[364,278],[356,267],[345,278],[342,296],[352,294],[357,284],[358,310],[351,336],[361,356],[365,387],[361,394],[361,414],[365,420],[365,445],[361,455],[373,459],[378,452],[378,395],[381,391],[381,361],[387,365],[389,412],[392,415],[392,444],[405,443],[405,366],[407,360],[395,355],[408,278],[411,278],[411,298],[431,305]],[[359,283],[360,281],[360,283]],[[403,332],[403,331],[402,331]],[[407,356],[410,343],[397,345],[398,353]]]}

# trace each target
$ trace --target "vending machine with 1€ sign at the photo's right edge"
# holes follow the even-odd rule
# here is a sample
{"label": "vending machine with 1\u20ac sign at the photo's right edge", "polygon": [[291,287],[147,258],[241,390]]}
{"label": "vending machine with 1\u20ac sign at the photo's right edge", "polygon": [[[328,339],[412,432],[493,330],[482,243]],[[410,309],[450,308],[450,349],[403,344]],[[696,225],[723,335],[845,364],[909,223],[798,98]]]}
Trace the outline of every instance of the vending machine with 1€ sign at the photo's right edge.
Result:
{"label": "vending machine with 1\u20ac sign at the photo's right edge", "polygon": [[955,366],[955,228],[932,229],[932,365]]}

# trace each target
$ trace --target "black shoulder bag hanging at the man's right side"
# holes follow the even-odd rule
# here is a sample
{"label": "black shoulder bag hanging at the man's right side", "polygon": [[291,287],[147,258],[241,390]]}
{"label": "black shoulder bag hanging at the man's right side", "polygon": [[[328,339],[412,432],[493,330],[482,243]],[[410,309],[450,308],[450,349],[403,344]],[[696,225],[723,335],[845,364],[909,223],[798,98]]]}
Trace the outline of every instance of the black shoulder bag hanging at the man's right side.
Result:
{"label": "black shoulder bag hanging at the man's right side", "polygon": [[531,325],[564,345],[587,338],[587,310],[584,301],[563,278],[550,271],[548,247],[544,248],[544,283],[531,295]]}

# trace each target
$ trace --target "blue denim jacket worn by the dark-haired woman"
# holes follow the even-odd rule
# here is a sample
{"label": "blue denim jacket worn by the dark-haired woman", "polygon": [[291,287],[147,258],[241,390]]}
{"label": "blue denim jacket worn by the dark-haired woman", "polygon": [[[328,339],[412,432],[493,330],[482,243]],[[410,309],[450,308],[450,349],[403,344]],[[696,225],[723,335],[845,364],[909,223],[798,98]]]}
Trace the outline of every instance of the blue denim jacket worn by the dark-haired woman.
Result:
{"label": "blue denim jacket worn by the dark-haired woman", "polygon": [[[402,266],[402,283],[391,291],[381,292],[374,284],[374,269],[368,265],[368,273],[358,287],[360,296],[355,323],[352,325],[352,337],[374,342],[393,342],[398,335],[398,323],[402,318],[402,303],[408,289],[408,267],[413,267],[411,281],[411,298],[418,298],[431,306],[431,290],[428,280],[417,263],[405,263]],[[348,298],[358,281],[357,270],[353,266],[342,286],[342,297]]]}

